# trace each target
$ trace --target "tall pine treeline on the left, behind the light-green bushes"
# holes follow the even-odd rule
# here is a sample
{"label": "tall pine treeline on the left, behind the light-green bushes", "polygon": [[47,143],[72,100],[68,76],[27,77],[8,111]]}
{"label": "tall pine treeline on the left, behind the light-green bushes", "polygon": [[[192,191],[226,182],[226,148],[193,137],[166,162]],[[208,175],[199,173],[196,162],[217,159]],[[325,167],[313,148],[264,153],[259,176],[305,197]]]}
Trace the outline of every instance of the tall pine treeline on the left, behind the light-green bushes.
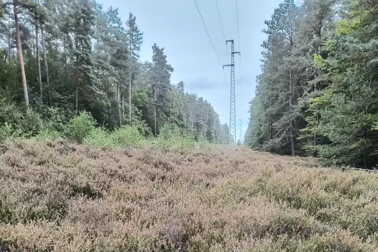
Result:
{"label": "tall pine treeline on the left, behind the light-green bushes", "polygon": [[151,61],[140,62],[142,42],[132,13],[123,24],[117,9],[95,1],[3,1],[0,130],[32,136],[38,130],[27,124],[42,121],[59,131],[88,111],[110,131],[131,124],[156,137],[175,124],[196,139],[226,144],[228,126],[211,104],[171,82],[164,48],[153,45]]}

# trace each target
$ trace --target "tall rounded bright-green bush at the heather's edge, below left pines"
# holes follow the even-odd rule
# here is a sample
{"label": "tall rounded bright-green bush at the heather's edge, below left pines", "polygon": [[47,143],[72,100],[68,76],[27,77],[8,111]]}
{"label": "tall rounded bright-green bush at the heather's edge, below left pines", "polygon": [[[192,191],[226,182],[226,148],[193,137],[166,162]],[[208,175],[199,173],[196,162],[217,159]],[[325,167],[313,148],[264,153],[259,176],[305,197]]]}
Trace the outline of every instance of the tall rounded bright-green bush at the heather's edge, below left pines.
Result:
{"label": "tall rounded bright-green bush at the heather's edge, below left pines", "polygon": [[66,128],[65,135],[67,138],[82,144],[84,139],[90,136],[95,130],[96,121],[87,111],[80,112],[79,116],[72,118]]}

